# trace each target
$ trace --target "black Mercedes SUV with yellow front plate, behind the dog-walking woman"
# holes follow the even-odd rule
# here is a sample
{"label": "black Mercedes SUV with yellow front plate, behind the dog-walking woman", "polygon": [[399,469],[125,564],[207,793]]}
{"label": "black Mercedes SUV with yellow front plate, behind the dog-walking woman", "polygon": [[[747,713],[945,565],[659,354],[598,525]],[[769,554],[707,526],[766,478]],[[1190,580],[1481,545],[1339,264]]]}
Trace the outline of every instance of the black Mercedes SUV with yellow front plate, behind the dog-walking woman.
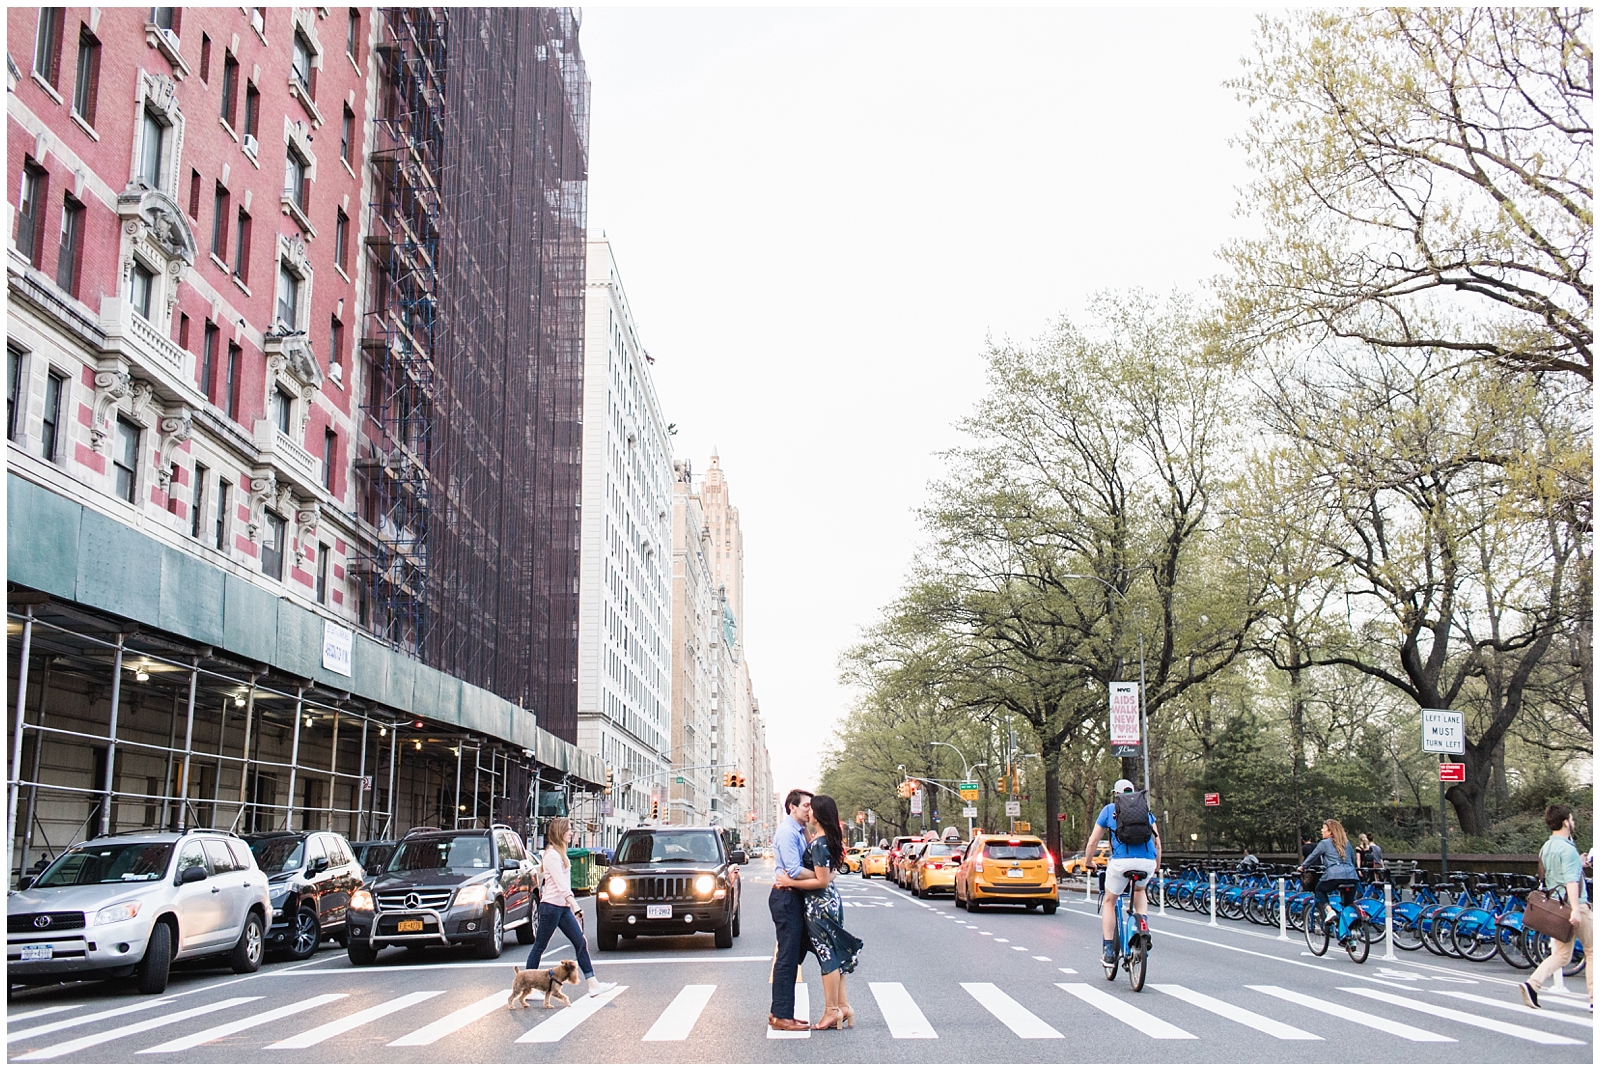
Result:
{"label": "black Mercedes SUV with yellow front plate, behind the dog-walking woman", "polygon": [[472,945],[499,959],[506,927],[533,943],[538,911],[533,861],[509,826],[410,832],[350,898],[350,962],[387,945]]}

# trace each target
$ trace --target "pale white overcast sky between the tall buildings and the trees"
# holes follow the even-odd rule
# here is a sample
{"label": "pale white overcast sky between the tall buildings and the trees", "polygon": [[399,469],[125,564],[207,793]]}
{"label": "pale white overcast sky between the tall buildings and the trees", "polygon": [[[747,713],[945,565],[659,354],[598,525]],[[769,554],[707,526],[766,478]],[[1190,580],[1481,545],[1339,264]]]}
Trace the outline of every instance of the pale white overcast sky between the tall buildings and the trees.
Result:
{"label": "pale white overcast sky between the tall buildings and the trees", "polygon": [[1107,290],[1198,290],[1248,229],[1243,10],[584,8],[589,231],[714,450],[776,789],[814,786],[838,656],[899,591],[939,451]]}

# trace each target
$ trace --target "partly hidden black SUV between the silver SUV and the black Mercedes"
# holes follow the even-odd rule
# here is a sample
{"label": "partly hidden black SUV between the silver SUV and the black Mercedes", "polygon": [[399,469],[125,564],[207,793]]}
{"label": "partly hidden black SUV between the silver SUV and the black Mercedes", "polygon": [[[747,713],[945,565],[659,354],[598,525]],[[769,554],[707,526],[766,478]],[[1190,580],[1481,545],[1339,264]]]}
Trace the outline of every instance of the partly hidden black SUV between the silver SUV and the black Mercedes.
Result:
{"label": "partly hidden black SUV between the silver SUV and the black Mercedes", "polygon": [[310,959],[326,938],[349,943],[346,911],[366,872],[350,842],[338,832],[266,832],[246,837],[256,864],[267,872],[272,929],[267,948],[290,959]]}

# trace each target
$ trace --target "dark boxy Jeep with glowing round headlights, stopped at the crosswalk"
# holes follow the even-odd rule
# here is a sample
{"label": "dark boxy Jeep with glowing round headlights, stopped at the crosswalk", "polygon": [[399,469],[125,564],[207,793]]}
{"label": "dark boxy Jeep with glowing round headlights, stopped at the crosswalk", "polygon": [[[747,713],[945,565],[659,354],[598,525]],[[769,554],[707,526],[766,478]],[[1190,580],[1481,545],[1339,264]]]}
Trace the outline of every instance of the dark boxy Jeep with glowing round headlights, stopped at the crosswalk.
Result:
{"label": "dark boxy Jeep with glowing round headlights, stopped at the crosswalk", "polygon": [[717,948],[739,937],[739,864],[712,826],[629,829],[595,892],[600,951],[618,938],[710,933]]}

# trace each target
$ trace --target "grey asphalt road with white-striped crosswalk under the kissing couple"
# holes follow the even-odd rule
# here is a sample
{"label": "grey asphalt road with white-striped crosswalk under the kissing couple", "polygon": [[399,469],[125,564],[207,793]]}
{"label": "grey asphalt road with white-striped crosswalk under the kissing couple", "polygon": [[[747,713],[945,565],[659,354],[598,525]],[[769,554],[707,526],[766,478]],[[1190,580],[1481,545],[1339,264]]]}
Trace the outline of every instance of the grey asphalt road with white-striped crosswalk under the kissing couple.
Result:
{"label": "grey asphalt road with white-striped crosswalk under the kissing couple", "polygon": [[[621,983],[571,1009],[506,1010],[515,941],[384,951],[352,967],[336,945],[254,975],[174,970],[162,997],[131,985],[14,989],[6,1058],[64,1063],[1594,1063],[1582,977],[1530,1012],[1501,962],[1426,951],[1363,965],[1315,959],[1248,922],[1152,914],[1149,981],[1099,969],[1096,906],[1064,892],[1054,916],[957,911],[888,882],[842,879],[845,925],[866,940],[850,977],[856,1028],[768,1036],[770,879],[747,866],[742,937],[622,945],[595,956]],[[592,941],[590,941],[592,946]],[[563,956],[554,945],[546,965]],[[802,993],[822,1010],[816,961]]]}

